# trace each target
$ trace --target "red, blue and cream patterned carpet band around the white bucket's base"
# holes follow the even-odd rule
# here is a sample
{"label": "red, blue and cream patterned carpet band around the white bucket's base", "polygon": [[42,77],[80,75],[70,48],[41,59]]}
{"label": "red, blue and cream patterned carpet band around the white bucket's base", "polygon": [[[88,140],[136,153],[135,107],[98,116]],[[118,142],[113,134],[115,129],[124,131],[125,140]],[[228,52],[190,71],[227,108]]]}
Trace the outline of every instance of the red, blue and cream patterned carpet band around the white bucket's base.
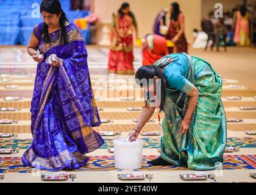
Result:
{"label": "red, blue and cream patterned carpet band around the white bucket's base", "polygon": [[[171,170],[188,170],[188,168],[177,166],[152,166],[147,163],[157,156],[143,156],[142,168],[146,171],[171,171]],[[224,155],[223,169],[255,169],[256,155]],[[118,171],[115,168],[115,159],[113,156],[96,156],[90,157],[87,166],[77,169],[76,171]],[[27,173],[35,169],[24,166],[21,157],[0,157],[0,173],[20,172]]]}

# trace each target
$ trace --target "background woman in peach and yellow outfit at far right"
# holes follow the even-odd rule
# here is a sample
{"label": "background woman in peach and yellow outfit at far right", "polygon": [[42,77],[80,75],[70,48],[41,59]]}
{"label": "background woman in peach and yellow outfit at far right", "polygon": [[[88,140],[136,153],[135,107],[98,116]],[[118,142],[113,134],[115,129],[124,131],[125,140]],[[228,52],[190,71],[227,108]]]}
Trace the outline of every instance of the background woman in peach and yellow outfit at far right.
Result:
{"label": "background woman in peach and yellow outfit at far right", "polygon": [[240,46],[250,46],[249,12],[247,12],[246,5],[241,5],[240,10],[237,12],[235,43]]}

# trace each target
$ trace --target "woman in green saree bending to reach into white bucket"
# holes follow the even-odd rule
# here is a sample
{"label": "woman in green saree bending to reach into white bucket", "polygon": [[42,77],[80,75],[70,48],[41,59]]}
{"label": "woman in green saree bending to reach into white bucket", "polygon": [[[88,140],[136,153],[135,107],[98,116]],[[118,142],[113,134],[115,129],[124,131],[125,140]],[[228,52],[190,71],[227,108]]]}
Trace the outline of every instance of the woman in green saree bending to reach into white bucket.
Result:
{"label": "woman in green saree bending to reach into white bucket", "polygon": [[144,88],[146,106],[129,141],[137,139],[155,107],[165,113],[161,155],[148,163],[195,170],[221,168],[227,126],[222,81],[212,65],[184,52],[166,55],[154,65],[139,68],[136,82]]}

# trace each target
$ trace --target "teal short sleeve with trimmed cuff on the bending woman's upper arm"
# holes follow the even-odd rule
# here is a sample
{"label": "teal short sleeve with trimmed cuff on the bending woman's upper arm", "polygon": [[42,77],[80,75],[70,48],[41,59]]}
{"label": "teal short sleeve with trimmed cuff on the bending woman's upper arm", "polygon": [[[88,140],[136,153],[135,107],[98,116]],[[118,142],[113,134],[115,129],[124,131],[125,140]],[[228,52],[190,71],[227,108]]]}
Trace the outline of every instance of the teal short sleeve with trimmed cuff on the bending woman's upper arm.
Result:
{"label": "teal short sleeve with trimmed cuff on the bending woman's upper arm", "polygon": [[163,73],[165,74],[167,82],[171,88],[177,88],[187,94],[191,91],[193,83],[185,78],[185,74],[187,72],[187,69],[185,68],[186,66],[172,62],[164,68]]}

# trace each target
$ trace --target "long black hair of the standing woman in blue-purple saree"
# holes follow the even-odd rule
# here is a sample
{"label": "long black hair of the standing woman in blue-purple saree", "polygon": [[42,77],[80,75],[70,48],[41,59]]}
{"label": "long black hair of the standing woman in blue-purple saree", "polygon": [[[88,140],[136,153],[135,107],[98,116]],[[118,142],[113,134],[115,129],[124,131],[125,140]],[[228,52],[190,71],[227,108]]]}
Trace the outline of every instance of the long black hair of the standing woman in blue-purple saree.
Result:
{"label": "long black hair of the standing woman in blue-purple saree", "polygon": [[[43,11],[52,14],[56,13],[57,15],[62,13],[60,16],[60,30],[62,33],[60,40],[63,40],[64,44],[68,44],[68,35],[65,27],[65,23],[68,22],[68,18],[66,18],[65,12],[62,10],[62,5],[60,4],[59,0],[43,0],[40,6],[40,12],[42,13]],[[51,43],[51,38],[49,36],[48,26],[46,23],[43,25],[43,40],[45,43]]]}

